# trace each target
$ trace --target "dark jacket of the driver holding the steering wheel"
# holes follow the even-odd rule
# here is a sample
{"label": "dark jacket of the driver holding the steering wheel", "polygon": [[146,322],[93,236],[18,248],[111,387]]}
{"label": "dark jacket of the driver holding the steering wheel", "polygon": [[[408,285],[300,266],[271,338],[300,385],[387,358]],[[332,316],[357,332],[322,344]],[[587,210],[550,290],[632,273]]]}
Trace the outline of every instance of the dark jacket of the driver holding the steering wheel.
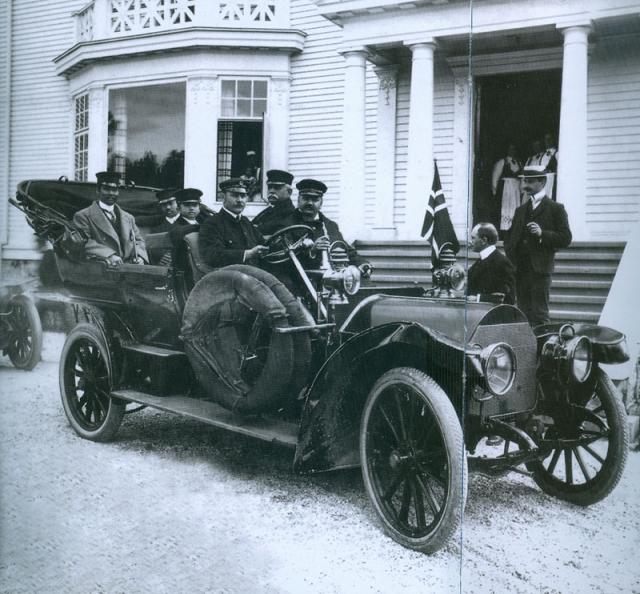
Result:
{"label": "dark jacket of the driver holding the steering wheel", "polygon": [[[206,217],[200,225],[200,256],[215,268],[242,264],[245,250],[264,244],[264,237],[245,216],[236,220],[225,210]],[[256,261],[244,261],[257,265]]]}

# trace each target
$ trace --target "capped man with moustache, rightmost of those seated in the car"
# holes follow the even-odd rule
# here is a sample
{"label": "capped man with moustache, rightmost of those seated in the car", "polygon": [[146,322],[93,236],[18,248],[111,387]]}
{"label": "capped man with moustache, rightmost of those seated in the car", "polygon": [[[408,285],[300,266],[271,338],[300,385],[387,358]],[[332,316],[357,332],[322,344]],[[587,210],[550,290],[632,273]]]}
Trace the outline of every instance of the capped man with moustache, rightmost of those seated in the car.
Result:
{"label": "capped man with moustache, rightmost of those seated in the car", "polygon": [[345,241],[338,224],[321,212],[327,186],[315,179],[303,179],[296,184],[296,188],[298,190],[298,208],[281,221],[279,228],[282,229],[289,225],[311,227],[314,245],[308,255],[300,255],[302,266],[308,269],[319,268],[322,264],[321,251],[328,249],[335,241],[342,241],[346,246],[349,264],[357,266],[362,276],[368,278],[373,270],[371,264]]}

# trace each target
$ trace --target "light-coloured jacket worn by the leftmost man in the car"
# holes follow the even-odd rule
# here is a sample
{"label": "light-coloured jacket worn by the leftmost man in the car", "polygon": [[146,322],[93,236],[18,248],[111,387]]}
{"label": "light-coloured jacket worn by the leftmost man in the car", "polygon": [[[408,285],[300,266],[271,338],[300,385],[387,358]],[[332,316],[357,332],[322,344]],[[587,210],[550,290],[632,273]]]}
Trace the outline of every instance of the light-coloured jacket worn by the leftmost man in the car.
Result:
{"label": "light-coloured jacket worn by the leftmost man in the car", "polygon": [[73,223],[88,237],[84,245],[86,256],[106,259],[115,254],[125,262],[132,262],[138,256],[148,262],[147,248],[134,217],[118,205],[114,210],[118,221],[116,224],[120,227],[119,234],[97,202],[74,215]]}

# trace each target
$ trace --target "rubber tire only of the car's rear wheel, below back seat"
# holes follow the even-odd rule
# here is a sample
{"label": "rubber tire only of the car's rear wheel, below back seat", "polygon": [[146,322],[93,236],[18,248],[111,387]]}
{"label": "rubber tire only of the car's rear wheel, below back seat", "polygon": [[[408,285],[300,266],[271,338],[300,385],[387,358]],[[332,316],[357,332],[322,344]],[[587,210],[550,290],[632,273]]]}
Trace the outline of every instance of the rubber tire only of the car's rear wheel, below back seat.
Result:
{"label": "rubber tire only of the car's rear wheel, below back seat", "polygon": [[64,342],[64,346],[62,347],[62,353],[60,354],[58,375],[60,382],[60,397],[62,399],[62,407],[64,408],[64,412],[67,416],[69,424],[80,437],[98,442],[111,441],[115,437],[118,429],[120,428],[120,424],[122,423],[126,403],[116,398],[109,398],[109,408],[107,410],[107,414],[105,415],[103,423],[95,430],[88,430],[85,427],[82,427],[82,425],[76,419],[67,397],[66,388],[69,378],[66,374],[66,363],[68,357],[71,354],[71,350],[75,346],[75,343],[79,340],[90,341],[98,347],[100,356],[106,363],[109,389],[111,389],[113,369],[111,356],[109,354],[109,348],[107,346],[107,342],[103,333],[92,324],[78,324],[67,336],[67,339]]}

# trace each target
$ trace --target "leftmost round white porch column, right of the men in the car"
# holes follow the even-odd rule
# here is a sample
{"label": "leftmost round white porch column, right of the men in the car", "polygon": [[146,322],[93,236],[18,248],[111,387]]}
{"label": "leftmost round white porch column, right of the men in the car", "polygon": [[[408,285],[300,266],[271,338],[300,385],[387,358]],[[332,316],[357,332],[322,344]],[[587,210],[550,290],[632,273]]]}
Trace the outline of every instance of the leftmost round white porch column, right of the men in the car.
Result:
{"label": "leftmost round white porch column, right of the men in the car", "polygon": [[344,52],[344,121],[342,125],[342,173],[340,228],[348,241],[364,231],[365,64],[364,50]]}

